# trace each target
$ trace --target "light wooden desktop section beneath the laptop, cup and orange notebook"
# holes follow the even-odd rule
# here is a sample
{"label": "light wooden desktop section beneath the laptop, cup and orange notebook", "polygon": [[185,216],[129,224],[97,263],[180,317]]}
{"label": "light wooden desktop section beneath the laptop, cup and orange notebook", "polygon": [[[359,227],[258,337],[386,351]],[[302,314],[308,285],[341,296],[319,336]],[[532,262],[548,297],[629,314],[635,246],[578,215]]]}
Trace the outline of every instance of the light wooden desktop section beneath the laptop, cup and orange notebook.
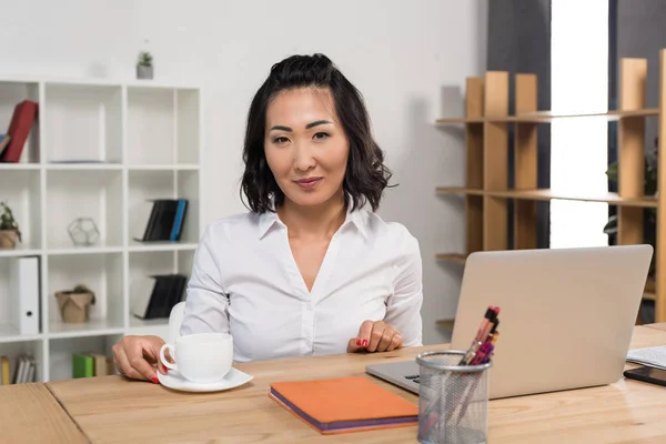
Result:
{"label": "light wooden desktop section beneath the laptop, cup and orange notebook", "polygon": [[[666,332],[637,326],[632,347],[666,344]],[[364,375],[369,363],[415,356],[427,346],[377,355],[340,355],[239,365],[254,375],[240,389],[209,394],[172,392],[119,376],[49,383],[93,443],[163,442],[416,442],[416,426],[322,436],[268,397],[274,381]],[[627,364],[627,367],[633,367]],[[367,376],[372,377],[372,376]],[[374,379],[373,379],[374,380]],[[401,396],[416,396],[387,386]],[[496,400],[490,403],[490,442],[664,442],[666,389],[636,381]]]}

